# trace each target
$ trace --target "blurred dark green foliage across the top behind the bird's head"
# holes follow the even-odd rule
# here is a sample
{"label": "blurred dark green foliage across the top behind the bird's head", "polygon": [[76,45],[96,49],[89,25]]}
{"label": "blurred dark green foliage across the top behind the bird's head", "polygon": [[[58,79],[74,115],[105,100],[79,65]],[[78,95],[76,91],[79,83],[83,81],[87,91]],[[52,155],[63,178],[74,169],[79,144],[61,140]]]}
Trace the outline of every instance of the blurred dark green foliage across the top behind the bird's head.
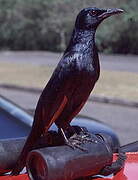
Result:
{"label": "blurred dark green foliage across the top behind the bird's head", "polygon": [[63,51],[77,13],[89,6],[126,11],[99,28],[100,51],[138,54],[137,0],[0,0],[0,49]]}

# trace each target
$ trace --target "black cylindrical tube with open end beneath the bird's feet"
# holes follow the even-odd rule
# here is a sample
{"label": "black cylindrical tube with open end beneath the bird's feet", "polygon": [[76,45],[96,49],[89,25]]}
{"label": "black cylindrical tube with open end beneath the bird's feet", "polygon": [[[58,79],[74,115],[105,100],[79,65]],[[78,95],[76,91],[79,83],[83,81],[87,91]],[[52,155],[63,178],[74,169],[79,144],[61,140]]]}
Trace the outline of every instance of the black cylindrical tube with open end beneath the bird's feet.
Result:
{"label": "black cylindrical tube with open end beneath the bird's feet", "polygon": [[112,163],[113,151],[101,138],[82,143],[87,151],[69,146],[47,147],[31,151],[27,171],[31,180],[73,180],[95,175]]}

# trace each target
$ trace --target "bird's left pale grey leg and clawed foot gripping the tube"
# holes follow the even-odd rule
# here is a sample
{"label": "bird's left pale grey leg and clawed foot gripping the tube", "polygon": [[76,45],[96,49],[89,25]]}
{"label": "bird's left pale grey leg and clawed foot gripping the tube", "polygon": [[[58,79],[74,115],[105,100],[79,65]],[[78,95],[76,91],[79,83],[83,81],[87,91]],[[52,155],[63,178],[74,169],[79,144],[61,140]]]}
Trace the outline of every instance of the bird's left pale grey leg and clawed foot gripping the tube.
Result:
{"label": "bird's left pale grey leg and clawed foot gripping the tube", "polygon": [[87,151],[87,149],[83,148],[81,146],[82,142],[79,141],[77,138],[77,134],[74,134],[73,136],[71,136],[69,139],[66,137],[65,135],[65,132],[62,128],[59,128],[60,132],[61,132],[61,135],[63,136],[64,138],[64,142],[67,146],[71,147],[72,149],[75,149],[75,148],[78,148],[82,151]]}

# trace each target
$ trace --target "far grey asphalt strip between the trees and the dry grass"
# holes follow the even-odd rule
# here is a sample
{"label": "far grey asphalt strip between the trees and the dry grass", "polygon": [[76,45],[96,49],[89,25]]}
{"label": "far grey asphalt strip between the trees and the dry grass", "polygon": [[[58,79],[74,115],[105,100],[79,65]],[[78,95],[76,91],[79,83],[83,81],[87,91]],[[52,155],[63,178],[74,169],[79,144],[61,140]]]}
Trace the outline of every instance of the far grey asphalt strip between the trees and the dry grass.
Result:
{"label": "far grey asphalt strip between the trees and the dry grass", "polygon": [[[55,66],[62,54],[51,52],[0,52],[0,61],[12,63],[31,63]],[[101,68],[104,70],[128,71],[138,73],[138,56],[100,55]]]}

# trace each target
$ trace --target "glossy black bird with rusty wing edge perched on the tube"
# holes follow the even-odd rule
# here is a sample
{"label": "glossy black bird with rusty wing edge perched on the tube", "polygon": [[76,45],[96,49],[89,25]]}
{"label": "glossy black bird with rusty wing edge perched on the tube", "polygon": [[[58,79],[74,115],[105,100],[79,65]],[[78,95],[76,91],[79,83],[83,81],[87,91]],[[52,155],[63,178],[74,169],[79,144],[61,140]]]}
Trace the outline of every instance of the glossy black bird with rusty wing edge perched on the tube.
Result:
{"label": "glossy black bird with rusty wing edge perched on the tube", "polygon": [[12,175],[23,169],[28,152],[54,122],[63,134],[72,128],[71,120],[84,106],[100,74],[96,29],[105,18],[122,12],[90,7],[78,14],[70,43],[40,96],[31,133]]}

